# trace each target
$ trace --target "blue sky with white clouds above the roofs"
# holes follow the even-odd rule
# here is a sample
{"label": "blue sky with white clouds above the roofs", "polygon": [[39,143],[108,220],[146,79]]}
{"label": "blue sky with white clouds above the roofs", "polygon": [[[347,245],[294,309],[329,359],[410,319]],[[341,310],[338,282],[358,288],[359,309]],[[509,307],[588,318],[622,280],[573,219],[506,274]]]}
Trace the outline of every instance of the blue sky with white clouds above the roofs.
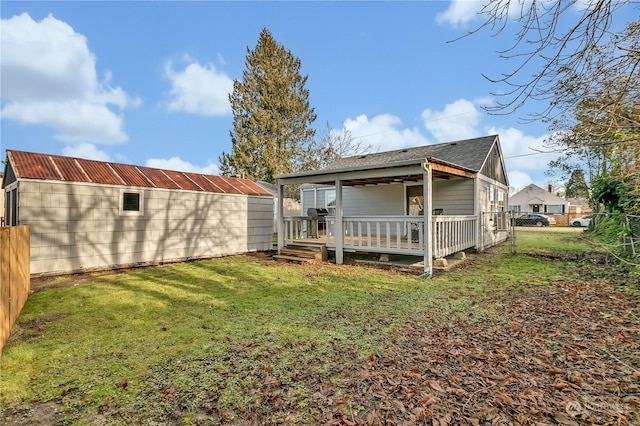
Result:
{"label": "blue sky with white clouds above the roofs", "polygon": [[266,28],[301,60],[318,135],[345,128],[387,151],[497,134],[512,189],[561,185],[545,174],[558,155],[544,146],[546,125],[522,120],[544,104],[483,110],[506,89],[483,74],[517,63],[497,53],[513,31],[460,38],[483,22],[481,4],[4,0],[2,156],[217,174],[231,150],[233,81]]}

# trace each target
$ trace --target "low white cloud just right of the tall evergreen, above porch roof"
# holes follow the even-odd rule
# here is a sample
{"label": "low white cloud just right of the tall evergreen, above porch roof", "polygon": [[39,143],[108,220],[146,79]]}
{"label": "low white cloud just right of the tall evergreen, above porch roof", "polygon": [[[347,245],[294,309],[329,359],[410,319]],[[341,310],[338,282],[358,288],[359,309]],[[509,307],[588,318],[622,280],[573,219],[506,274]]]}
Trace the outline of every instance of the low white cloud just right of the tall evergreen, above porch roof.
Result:
{"label": "low white cloud just right of the tall evergreen, above porch roof", "polygon": [[419,129],[403,129],[402,122],[390,114],[376,115],[371,120],[359,115],[355,120],[348,118],[343,123],[355,140],[363,145],[371,145],[374,150],[390,151],[411,146],[426,145],[429,142]]}

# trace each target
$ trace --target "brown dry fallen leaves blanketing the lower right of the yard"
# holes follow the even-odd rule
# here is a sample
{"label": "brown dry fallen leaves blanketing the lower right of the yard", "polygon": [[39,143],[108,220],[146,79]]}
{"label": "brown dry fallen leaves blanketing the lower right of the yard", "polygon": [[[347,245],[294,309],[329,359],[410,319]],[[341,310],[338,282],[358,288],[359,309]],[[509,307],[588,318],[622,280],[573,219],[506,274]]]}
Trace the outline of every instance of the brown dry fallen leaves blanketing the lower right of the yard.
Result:
{"label": "brown dry fallen leaves blanketing the lower right of the yard", "polygon": [[[326,359],[292,365],[293,379],[252,359],[243,392],[259,403],[220,408],[210,390],[198,424],[637,424],[640,298],[612,284],[559,281],[491,300],[500,318],[428,315],[407,322],[383,353],[362,360],[334,346]],[[238,343],[241,362],[251,352]],[[301,349],[304,350],[304,349]],[[323,368],[329,365],[329,368]],[[304,398],[297,384],[312,389]],[[172,395],[173,396],[173,395]],[[188,401],[172,399],[175,419]]]}

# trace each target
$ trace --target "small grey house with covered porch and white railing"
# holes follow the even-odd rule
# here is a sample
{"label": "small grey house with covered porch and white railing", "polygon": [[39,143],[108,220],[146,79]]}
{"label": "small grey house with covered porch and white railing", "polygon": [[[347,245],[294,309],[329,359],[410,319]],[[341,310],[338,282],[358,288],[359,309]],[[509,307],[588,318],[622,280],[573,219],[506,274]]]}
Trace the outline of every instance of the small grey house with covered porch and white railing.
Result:
{"label": "small grey house with covered porch and white railing", "polygon": [[[420,256],[430,276],[434,258],[508,237],[509,182],[497,135],[342,158],[277,178],[279,193],[304,184],[303,214],[327,209],[318,239],[338,264],[345,252]],[[282,252],[308,237],[309,218],[286,217],[282,203],[277,210]]]}

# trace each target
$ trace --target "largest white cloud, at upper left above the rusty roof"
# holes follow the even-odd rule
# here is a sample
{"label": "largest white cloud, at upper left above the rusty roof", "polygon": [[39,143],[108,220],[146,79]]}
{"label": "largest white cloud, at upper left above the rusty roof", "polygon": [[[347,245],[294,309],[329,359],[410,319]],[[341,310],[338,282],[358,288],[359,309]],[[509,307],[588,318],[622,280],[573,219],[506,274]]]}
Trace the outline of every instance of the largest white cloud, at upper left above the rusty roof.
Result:
{"label": "largest white cloud, at upper left above the rusty roof", "polygon": [[36,22],[26,13],[2,19],[1,28],[3,119],[50,127],[67,142],[127,140],[122,115],[110,106],[121,112],[140,101],[98,81],[82,34],[52,15]]}

